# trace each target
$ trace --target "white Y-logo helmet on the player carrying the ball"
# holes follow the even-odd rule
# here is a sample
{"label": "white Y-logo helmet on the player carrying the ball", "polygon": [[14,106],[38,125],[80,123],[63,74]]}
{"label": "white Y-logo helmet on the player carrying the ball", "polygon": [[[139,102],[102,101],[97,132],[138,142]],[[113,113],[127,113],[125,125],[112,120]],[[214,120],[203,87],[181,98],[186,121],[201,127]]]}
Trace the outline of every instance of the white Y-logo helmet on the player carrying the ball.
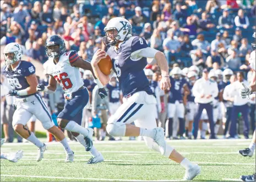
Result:
{"label": "white Y-logo helmet on the player carrying the ball", "polygon": [[[109,33],[110,30],[113,31],[112,35]],[[117,31],[115,35],[114,30]],[[132,25],[127,19],[116,17],[108,21],[104,32],[106,33],[106,36],[103,37],[104,43],[116,45],[118,42],[124,41],[129,35],[132,36]]]}

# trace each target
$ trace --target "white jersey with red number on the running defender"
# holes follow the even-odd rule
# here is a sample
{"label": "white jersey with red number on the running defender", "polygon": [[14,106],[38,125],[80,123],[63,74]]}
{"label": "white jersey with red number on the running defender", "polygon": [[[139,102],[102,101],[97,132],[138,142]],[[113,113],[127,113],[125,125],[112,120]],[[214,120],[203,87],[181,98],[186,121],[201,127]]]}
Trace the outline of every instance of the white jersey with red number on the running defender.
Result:
{"label": "white jersey with red number on the running defender", "polygon": [[69,51],[59,56],[57,64],[53,62],[53,58],[48,59],[43,68],[48,75],[52,75],[56,81],[61,84],[66,94],[76,92],[84,86],[83,78],[79,71],[79,67],[73,67],[70,64],[75,62],[79,55],[75,51]]}

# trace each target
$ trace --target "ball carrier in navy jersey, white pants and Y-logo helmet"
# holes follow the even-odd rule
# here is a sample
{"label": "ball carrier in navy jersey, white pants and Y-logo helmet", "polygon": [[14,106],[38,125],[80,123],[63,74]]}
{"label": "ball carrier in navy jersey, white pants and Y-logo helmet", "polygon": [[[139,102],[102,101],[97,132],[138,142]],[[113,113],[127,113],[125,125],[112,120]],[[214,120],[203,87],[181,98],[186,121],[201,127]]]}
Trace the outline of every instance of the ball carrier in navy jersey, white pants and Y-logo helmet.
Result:
{"label": "ball carrier in navy jersey, white pants and Y-logo helmet", "polygon": [[[104,43],[111,45],[107,54],[113,63],[112,73],[116,73],[124,96],[124,103],[108,120],[107,132],[112,136],[143,136],[150,149],[180,163],[186,169],[184,179],[192,180],[200,173],[200,167],[166,144],[164,129],[156,127],[156,98],[143,71],[146,58],[155,58],[162,73],[160,88],[170,89],[165,55],[149,48],[144,38],[132,36],[132,25],[124,18],[111,19],[104,31]],[[91,60],[96,77],[104,85],[110,81],[112,73],[102,73],[98,63],[107,54],[99,49]],[[135,126],[130,124],[132,122]]]}

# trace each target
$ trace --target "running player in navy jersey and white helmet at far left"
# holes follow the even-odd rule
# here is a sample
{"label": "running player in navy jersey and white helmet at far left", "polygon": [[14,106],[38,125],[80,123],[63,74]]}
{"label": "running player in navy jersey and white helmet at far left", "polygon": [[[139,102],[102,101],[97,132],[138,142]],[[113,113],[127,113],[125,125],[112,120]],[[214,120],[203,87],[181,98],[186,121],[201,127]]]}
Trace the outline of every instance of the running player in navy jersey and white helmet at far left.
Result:
{"label": "running player in navy jersey and white helmet at far left", "polygon": [[16,97],[17,110],[13,115],[15,132],[39,148],[37,161],[41,161],[47,147],[36,138],[34,133],[25,128],[31,116],[35,115],[42,122],[43,128],[55,135],[63,145],[67,154],[66,162],[72,162],[74,152],[70,149],[62,131],[53,123],[46,104],[36,91],[38,83],[35,76],[35,66],[31,62],[21,60],[23,50],[21,45],[17,43],[6,45],[3,54],[6,66],[3,67],[2,74],[7,77],[8,84],[13,88],[8,94]]}

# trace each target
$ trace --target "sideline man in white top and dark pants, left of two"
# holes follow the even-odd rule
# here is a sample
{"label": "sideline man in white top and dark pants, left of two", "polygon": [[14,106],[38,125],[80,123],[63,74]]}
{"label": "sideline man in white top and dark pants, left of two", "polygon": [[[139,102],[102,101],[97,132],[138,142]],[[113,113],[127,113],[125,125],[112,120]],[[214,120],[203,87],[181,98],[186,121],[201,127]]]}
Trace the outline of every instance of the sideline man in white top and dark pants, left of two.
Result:
{"label": "sideline man in white top and dark pants, left of two", "polygon": [[205,109],[210,122],[211,136],[210,139],[216,139],[214,134],[214,121],[213,121],[213,100],[218,95],[219,90],[217,82],[208,78],[208,70],[203,70],[203,77],[198,79],[192,89],[195,96],[195,103],[198,103],[197,113],[194,118],[194,139],[197,139],[198,123],[201,117],[201,113]]}

